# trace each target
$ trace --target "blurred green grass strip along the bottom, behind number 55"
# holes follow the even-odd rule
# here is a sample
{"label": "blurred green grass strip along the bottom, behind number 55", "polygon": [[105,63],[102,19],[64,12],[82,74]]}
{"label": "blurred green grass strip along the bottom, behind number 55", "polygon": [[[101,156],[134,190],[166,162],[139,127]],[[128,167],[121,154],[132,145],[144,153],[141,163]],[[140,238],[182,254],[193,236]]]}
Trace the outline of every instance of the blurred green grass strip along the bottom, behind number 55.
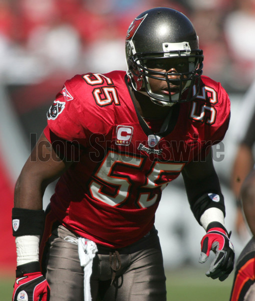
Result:
{"label": "blurred green grass strip along the bottom, behind number 55", "polygon": [[[167,301],[228,301],[233,272],[223,282],[210,279],[203,269],[166,271]],[[0,276],[0,301],[10,301],[14,279]],[[79,301],[79,300],[77,300]]]}

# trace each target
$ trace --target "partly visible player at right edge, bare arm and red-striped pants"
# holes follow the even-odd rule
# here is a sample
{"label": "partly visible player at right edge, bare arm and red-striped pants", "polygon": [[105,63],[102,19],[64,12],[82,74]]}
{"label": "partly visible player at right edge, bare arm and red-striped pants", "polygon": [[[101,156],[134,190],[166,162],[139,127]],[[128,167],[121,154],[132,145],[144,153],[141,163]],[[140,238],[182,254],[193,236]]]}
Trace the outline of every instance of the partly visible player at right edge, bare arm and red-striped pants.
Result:
{"label": "partly visible player at right edge, bare arm and red-striped pants", "polygon": [[255,299],[255,170],[244,179],[240,197],[242,209],[252,237],[236,261],[230,301]]}

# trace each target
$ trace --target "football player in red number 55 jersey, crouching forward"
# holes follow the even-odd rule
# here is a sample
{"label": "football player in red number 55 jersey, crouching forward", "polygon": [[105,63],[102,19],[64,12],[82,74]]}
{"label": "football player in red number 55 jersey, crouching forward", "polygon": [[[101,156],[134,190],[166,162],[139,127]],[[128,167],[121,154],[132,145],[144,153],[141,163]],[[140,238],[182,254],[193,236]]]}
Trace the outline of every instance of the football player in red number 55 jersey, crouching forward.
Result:
{"label": "football player in red number 55 jersey, crouching forward", "polygon": [[[17,180],[15,301],[166,300],[154,216],[180,174],[206,231],[199,261],[215,253],[206,275],[222,281],[233,268],[211,156],[228,127],[229,98],[201,76],[191,22],[170,8],[145,11],[127,31],[125,53],[127,72],[64,83]],[[44,214],[43,192],[58,177]]]}

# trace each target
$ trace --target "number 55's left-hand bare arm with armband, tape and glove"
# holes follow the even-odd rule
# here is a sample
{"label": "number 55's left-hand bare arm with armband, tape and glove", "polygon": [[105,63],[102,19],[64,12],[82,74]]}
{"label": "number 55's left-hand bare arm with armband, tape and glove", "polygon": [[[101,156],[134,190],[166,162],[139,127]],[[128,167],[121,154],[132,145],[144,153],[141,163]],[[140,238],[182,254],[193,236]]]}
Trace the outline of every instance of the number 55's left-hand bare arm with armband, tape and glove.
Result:
{"label": "number 55's left-hand bare arm with armband, tape and glove", "polygon": [[16,281],[12,300],[48,300],[49,286],[40,272],[39,237],[44,226],[42,197],[49,183],[71,163],[61,161],[41,134],[15,185],[12,228],[17,249]]}

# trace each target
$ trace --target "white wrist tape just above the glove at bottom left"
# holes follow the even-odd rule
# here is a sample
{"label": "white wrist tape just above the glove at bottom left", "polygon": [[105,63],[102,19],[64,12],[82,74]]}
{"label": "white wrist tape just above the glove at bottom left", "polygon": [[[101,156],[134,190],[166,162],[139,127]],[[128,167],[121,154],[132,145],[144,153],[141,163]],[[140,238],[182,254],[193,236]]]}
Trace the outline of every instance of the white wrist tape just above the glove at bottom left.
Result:
{"label": "white wrist tape just above the glove at bottom left", "polygon": [[39,235],[22,235],[15,237],[17,265],[39,261]]}

